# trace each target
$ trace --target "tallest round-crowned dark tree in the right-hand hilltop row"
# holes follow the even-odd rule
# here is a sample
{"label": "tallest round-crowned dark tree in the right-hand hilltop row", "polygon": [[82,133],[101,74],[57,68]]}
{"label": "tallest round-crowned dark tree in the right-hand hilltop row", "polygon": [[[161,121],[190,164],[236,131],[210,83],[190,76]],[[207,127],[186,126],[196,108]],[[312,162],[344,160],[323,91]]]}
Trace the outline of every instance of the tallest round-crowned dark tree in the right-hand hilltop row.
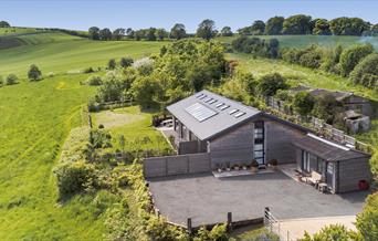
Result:
{"label": "tallest round-crowned dark tree in the right-hand hilltop row", "polygon": [[309,34],[312,32],[311,17],[304,14],[291,15],[283,22],[284,34]]}

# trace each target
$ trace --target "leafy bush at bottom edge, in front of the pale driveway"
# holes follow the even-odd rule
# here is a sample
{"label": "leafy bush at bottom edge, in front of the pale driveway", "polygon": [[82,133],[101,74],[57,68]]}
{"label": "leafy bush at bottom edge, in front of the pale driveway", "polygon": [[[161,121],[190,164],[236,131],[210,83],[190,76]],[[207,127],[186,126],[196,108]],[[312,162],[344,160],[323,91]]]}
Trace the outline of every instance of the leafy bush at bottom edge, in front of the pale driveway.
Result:
{"label": "leafy bush at bottom edge, in front of the pale driveway", "polygon": [[305,232],[304,238],[298,239],[298,241],[349,241],[355,235],[356,233],[349,231],[345,226],[330,224],[314,233],[313,237]]}

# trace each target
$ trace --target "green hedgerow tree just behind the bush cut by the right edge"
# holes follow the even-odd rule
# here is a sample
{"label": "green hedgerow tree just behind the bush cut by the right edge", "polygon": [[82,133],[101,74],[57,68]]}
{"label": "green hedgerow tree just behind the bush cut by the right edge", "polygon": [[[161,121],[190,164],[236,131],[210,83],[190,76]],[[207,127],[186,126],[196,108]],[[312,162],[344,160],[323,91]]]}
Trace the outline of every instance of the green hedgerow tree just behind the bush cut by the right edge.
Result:
{"label": "green hedgerow tree just behind the bush cut by the right edge", "polygon": [[355,66],[372,52],[374,48],[371,44],[354,45],[343,51],[339,62],[342,75],[348,76]]}

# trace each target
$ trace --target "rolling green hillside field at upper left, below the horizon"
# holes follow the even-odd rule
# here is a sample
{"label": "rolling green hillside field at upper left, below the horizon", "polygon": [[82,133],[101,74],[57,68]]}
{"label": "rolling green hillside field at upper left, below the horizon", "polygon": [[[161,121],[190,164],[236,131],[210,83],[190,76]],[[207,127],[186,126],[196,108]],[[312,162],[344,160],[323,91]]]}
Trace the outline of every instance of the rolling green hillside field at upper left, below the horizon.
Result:
{"label": "rolling green hillside field at upper left, below the horizon", "polygon": [[39,33],[20,36],[25,45],[0,50],[0,75],[25,76],[30,64],[43,73],[75,72],[104,67],[109,59],[141,57],[158,52],[168,42],[91,41],[64,33]]}

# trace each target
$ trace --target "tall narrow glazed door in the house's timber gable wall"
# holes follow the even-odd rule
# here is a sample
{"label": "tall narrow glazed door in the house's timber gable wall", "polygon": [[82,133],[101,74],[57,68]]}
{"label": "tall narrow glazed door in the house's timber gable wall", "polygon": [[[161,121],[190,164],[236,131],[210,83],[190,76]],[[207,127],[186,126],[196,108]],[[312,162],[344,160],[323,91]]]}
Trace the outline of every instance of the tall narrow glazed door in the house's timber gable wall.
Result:
{"label": "tall narrow glazed door in the house's timber gable wall", "polygon": [[264,122],[254,123],[253,158],[259,163],[259,165],[265,164]]}

